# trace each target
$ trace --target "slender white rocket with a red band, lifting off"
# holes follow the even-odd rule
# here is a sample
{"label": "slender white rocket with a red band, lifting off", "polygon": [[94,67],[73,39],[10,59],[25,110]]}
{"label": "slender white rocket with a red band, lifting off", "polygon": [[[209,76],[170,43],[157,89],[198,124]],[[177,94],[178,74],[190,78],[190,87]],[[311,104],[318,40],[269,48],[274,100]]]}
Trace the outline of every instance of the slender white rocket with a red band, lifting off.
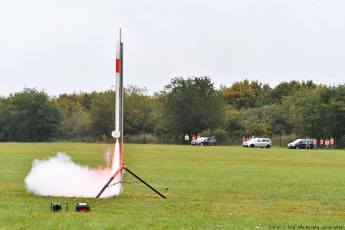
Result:
{"label": "slender white rocket with a red band, lifting off", "polygon": [[[116,45],[116,83],[115,83],[115,130],[112,132],[112,136],[115,138],[119,138],[121,135],[120,132],[120,100],[122,102],[121,94],[122,89],[120,86],[120,43],[117,40]],[[122,104],[122,103],[121,103]],[[122,126],[122,124],[121,124]]]}

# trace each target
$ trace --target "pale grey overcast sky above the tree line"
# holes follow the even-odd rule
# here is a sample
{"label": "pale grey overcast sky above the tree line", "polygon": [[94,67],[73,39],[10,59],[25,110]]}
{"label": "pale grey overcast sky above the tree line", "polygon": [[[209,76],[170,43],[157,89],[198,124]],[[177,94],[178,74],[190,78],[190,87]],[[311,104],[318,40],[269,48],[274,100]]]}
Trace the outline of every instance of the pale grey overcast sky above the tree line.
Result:
{"label": "pale grey overcast sky above the tree line", "polygon": [[124,85],[160,91],[176,76],[218,88],[345,82],[344,0],[1,0],[0,95],[50,95],[115,85],[118,30]]}

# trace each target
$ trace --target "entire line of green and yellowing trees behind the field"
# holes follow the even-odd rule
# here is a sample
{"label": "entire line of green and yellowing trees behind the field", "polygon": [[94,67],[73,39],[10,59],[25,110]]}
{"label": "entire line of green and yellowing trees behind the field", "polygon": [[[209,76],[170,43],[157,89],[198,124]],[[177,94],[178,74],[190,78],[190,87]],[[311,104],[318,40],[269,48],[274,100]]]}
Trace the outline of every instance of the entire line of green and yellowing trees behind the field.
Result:
{"label": "entire line of green and yellowing trees behind the field", "polygon": [[[124,135],[333,137],[345,145],[345,85],[313,81],[237,81],[216,88],[207,76],[173,78],[160,92],[129,85],[124,90]],[[115,91],[49,96],[24,88],[0,97],[0,141],[111,139]]]}

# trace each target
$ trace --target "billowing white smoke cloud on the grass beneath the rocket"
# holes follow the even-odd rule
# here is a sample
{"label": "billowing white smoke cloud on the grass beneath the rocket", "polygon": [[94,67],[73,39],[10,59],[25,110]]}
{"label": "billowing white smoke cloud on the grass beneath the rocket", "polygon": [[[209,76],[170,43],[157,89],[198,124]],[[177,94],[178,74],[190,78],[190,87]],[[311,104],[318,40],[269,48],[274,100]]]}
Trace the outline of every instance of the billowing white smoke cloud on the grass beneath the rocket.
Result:
{"label": "billowing white smoke cloud on the grass beneath the rocket", "polygon": [[[106,156],[109,156],[108,153]],[[109,158],[107,158],[108,162]],[[74,163],[69,156],[58,153],[45,160],[35,159],[25,178],[28,192],[43,196],[96,197],[112,176],[111,168],[90,169]],[[120,181],[118,174],[112,183]],[[121,183],[108,187],[101,198],[118,196]]]}

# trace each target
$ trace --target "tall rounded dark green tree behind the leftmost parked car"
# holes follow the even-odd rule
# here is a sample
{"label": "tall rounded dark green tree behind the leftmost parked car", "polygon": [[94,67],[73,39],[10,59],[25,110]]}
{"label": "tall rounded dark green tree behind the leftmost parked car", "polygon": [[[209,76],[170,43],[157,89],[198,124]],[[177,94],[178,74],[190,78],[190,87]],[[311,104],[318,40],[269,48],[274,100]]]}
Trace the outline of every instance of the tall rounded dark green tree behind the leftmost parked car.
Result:
{"label": "tall rounded dark green tree behind the leftmost parked car", "polygon": [[218,127],[224,116],[224,103],[210,78],[176,77],[159,98],[164,102],[163,117],[174,134],[197,134]]}

